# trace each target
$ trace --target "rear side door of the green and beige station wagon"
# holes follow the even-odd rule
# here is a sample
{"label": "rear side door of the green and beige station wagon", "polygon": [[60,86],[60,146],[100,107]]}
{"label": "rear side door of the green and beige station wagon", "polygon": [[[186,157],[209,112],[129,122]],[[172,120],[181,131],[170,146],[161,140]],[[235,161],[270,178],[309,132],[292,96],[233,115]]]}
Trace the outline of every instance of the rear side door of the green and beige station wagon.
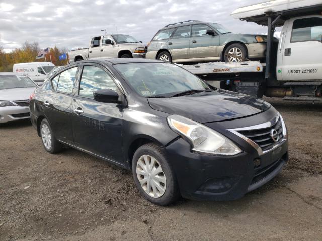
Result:
{"label": "rear side door of the green and beige station wagon", "polygon": [[191,35],[191,25],[178,27],[172,38],[168,41],[172,59],[189,58],[189,42]]}

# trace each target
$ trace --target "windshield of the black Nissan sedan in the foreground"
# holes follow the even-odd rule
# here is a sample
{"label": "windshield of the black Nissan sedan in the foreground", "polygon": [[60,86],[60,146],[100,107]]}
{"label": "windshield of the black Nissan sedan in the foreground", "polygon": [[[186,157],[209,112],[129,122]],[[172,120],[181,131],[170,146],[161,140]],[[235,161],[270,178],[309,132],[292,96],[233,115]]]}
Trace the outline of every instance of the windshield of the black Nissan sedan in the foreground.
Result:
{"label": "windshield of the black Nissan sedan in the foreground", "polygon": [[174,97],[180,93],[211,90],[197,76],[170,63],[126,63],[114,67],[143,97]]}

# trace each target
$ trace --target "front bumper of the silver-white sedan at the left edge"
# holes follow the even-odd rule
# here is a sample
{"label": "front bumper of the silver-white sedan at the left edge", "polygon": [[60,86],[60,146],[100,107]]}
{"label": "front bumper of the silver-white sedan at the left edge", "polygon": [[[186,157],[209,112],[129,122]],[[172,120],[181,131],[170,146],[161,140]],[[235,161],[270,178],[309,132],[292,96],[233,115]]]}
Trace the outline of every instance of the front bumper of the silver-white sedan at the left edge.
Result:
{"label": "front bumper of the silver-white sedan at the left edge", "polygon": [[29,106],[0,107],[0,123],[30,118]]}

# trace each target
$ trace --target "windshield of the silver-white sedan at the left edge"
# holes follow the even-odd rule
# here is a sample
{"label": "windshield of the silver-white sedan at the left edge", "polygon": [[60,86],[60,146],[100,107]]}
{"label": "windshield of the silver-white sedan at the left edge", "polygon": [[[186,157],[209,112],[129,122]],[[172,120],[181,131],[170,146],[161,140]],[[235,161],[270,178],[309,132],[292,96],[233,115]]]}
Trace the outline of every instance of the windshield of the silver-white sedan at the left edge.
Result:
{"label": "windshield of the silver-white sedan at the left edge", "polygon": [[38,87],[24,75],[0,75],[0,89]]}

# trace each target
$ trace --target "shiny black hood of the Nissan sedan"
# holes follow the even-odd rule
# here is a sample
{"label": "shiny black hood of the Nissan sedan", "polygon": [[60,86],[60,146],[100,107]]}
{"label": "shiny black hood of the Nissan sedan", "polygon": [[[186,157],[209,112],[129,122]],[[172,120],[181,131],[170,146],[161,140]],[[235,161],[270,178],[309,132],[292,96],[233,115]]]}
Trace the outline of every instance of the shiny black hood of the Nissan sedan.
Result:
{"label": "shiny black hood of the Nissan sedan", "polygon": [[254,115],[271,105],[252,96],[218,89],[172,98],[148,98],[152,109],[178,114],[199,123]]}

